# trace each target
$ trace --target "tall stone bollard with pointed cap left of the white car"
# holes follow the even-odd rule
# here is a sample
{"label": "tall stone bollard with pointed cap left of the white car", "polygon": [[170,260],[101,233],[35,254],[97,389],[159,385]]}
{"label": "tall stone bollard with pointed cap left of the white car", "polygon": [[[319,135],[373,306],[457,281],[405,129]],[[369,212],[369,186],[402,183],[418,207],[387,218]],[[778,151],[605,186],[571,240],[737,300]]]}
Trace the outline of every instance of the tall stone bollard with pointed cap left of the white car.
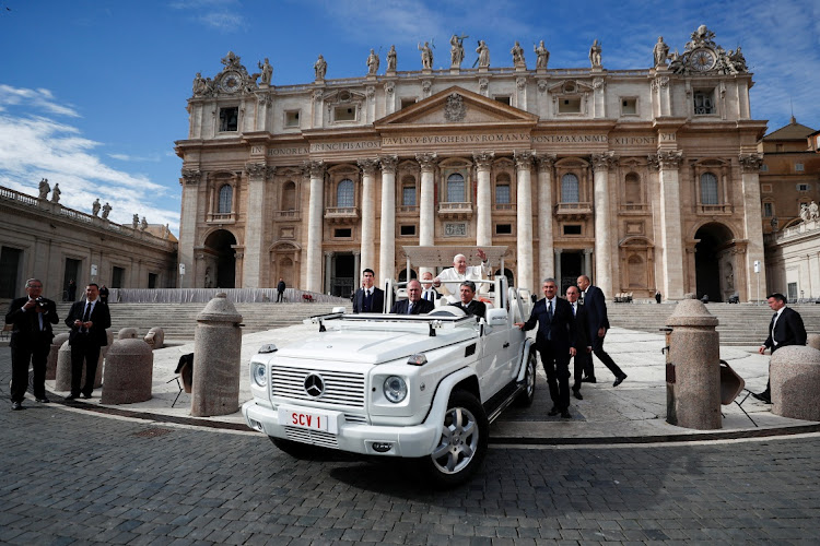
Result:
{"label": "tall stone bollard with pointed cap left of the white car", "polygon": [[197,316],[190,414],[227,415],[239,408],[242,314],[224,293]]}

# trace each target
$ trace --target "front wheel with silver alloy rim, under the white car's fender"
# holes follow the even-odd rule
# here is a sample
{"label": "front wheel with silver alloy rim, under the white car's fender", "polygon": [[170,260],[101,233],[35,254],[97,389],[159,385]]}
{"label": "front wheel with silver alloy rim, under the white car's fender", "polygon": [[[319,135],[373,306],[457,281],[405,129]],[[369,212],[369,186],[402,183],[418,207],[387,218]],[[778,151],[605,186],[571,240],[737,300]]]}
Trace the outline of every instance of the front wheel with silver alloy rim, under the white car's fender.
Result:
{"label": "front wheel with silver alloy rim, under the white car's fender", "polygon": [[435,449],[419,461],[423,474],[436,487],[462,484],[481,466],[487,455],[489,430],[487,414],[476,396],[466,391],[454,391]]}

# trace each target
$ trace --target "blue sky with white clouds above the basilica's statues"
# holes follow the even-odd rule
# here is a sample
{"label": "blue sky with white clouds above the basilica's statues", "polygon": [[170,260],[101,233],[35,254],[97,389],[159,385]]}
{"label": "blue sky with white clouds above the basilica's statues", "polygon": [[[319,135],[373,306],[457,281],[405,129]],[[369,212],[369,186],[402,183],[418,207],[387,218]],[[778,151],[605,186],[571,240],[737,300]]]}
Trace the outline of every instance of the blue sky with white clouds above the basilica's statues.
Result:
{"label": "blue sky with white clouds above the basilica's statues", "polygon": [[137,213],[177,233],[174,141],[187,136],[194,75],[215,75],[229,50],[251,72],[270,58],[274,85],[313,81],[319,54],[328,79],[351,78],[382,48],[383,72],[391,44],[399,70],[419,70],[417,44],[431,39],[444,67],[454,33],[485,40],[496,67],[512,66],[515,40],[532,67],[541,39],[550,68],[588,67],[597,38],[605,68],[644,69],[659,35],[682,52],[701,24],[725,49],[742,46],[753,118],[772,131],[794,110],[820,129],[818,0],[0,0],[0,186],[36,194],[45,177],[67,206],[91,212],[99,198],[115,222]]}

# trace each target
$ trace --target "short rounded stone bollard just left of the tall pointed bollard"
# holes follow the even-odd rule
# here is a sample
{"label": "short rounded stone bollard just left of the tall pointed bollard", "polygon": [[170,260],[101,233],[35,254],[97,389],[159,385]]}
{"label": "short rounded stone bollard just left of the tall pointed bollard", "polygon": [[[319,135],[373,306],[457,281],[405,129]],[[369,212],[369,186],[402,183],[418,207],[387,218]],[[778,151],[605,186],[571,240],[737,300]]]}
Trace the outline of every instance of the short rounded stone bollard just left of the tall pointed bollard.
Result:
{"label": "short rounded stone bollard just left of the tall pointed bollard", "polygon": [[108,349],[101,404],[151,400],[154,354],[142,340],[117,340]]}

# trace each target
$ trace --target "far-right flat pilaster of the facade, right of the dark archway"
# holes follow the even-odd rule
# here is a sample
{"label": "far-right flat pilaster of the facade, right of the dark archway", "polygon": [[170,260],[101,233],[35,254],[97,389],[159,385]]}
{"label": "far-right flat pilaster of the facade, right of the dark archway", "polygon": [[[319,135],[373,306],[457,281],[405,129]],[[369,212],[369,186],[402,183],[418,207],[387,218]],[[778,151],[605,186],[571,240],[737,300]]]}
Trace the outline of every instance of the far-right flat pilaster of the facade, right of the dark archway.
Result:
{"label": "far-right flat pilaster of the facade, right of the dark archway", "polygon": [[[743,232],[749,241],[746,247],[746,294],[749,301],[758,300],[758,280],[760,278],[760,299],[766,295],[766,272],[763,261],[763,228],[760,217],[763,215],[760,204],[760,166],[762,154],[740,156],[741,183],[743,187]],[[760,273],[754,273],[754,261],[760,261]],[[809,290],[811,292],[811,290]]]}

